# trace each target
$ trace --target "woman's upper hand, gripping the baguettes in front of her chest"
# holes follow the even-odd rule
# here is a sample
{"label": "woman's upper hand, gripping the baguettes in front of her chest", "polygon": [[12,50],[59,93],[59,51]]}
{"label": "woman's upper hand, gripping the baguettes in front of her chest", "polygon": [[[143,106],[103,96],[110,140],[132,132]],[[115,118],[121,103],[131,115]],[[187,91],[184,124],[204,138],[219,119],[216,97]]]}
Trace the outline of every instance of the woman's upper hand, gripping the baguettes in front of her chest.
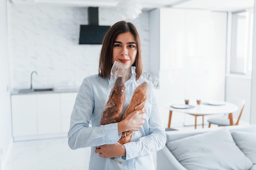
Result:
{"label": "woman's upper hand, gripping the baguettes in front of her chest", "polygon": [[125,131],[138,131],[145,122],[143,113],[146,110],[135,110],[130,113],[124,120],[118,123],[118,133]]}

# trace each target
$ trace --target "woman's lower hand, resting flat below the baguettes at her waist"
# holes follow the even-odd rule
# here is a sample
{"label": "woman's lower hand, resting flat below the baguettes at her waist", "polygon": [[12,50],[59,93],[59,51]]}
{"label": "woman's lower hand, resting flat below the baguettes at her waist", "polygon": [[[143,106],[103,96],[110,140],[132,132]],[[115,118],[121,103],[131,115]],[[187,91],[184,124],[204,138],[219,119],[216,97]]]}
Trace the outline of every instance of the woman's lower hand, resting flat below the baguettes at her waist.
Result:
{"label": "woman's lower hand, resting flat below the baguettes at her waist", "polygon": [[104,158],[121,157],[126,155],[126,149],[124,145],[117,142],[116,144],[101,145],[99,149],[96,147],[95,153],[99,153],[99,156]]}

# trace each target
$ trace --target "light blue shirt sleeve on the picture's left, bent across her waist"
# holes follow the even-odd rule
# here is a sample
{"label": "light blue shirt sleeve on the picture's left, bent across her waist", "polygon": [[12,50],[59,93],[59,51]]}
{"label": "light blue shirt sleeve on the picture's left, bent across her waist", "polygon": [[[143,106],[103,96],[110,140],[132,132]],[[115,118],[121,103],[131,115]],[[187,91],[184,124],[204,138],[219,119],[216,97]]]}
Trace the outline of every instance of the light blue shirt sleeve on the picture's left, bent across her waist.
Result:
{"label": "light blue shirt sleeve on the picture's left, bent across her waist", "polygon": [[121,137],[121,134],[118,134],[117,123],[89,127],[93,110],[94,92],[92,85],[89,80],[84,79],[70,118],[68,145],[71,149],[115,144]]}

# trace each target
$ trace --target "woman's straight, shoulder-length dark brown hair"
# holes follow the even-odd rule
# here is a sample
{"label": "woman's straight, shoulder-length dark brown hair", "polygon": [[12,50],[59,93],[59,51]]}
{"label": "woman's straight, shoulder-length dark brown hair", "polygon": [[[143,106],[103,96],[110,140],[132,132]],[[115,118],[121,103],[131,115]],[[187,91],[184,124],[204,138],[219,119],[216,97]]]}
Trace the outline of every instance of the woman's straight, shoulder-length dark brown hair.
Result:
{"label": "woman's straight, shoulder-length dark brown hair", "polygon": [[139,39],[139,33],[135,26],[126,21],[119,21],[112,25],[107,31],[103,38],[101,54],[99,57],[99,76],[103,78],[110,78],[110,72],[112,68],[112,55],[113,55],[113,45],[115,39],[120,33],[130,32],[134,36],[135,42],[137,43],[137,55],[135,62],[132,66],[135,66],[136,81],[142,74],[142,58],[141,58],[141,44]]}

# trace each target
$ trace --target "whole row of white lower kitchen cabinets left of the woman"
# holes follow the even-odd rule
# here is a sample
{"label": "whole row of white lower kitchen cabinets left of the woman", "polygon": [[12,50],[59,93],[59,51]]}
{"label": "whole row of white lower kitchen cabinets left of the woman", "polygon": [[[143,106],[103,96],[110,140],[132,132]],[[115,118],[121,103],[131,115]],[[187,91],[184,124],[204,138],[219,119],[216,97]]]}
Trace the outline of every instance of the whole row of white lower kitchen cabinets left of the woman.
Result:
{"label": "whole row of white lower kitchen cabinets left of the woman", "polygon": [[14,141],[66,136],[76,94],[11,95]]}

